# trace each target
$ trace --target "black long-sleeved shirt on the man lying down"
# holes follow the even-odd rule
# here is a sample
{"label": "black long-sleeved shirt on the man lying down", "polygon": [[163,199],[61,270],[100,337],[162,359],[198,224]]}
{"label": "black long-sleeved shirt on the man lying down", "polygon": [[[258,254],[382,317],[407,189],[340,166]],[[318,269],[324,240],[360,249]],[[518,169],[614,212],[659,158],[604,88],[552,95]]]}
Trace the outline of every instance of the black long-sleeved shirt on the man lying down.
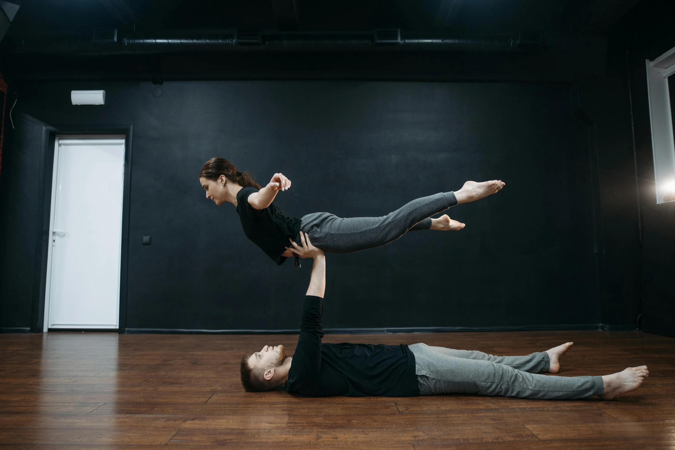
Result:
{"label": "black long-sleeved shirt on the man lying down", "polygon": [[419,395],[415,357],[408,346],[322,344],[322,320],[323,298],[306,296],[286,391],[312,397]]}

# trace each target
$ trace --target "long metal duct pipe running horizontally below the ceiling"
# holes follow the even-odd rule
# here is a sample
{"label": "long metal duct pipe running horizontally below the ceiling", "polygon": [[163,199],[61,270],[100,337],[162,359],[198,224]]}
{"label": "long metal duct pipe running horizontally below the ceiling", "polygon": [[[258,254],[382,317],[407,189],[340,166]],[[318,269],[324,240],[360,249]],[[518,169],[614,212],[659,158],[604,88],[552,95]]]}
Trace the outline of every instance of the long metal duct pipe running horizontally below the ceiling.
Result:
{"label": "long metal duct pipe running horizontally below the ceiling", "polygon": [[[399,34],[400,36],[400,34]],[[472,51],[494,52],[535,48],[519,36],[399,37],[378,42],[372,32],[362,33],[259,33],[128,35],[111,42],[92,42],[84,36],[14,38],[3,42],[3,53],[62,55],[126,55],[235,51]],[[529,44],[529,45],[528,45]]]}

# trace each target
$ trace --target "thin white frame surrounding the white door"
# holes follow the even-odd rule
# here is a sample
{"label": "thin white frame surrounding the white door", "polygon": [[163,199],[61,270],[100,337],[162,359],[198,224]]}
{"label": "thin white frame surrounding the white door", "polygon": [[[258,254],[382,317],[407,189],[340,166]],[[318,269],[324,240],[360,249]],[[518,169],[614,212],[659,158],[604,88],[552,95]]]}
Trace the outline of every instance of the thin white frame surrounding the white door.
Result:
{"label": "thin white frame surrounding the white door", "polygon": [[[54,139],[54,164],[53,172],[51,176],[51,203],[49,206],[49,245],[47,246],[47,280],[45,282],[45,320],[43,321],[43,332],[49,331],[49,324],[51,323],[51,262],[52,262],[52,253],[54,246],[53,243],[53,231],[54,231],[54,213],[55,213],[55,204],[56,204],[56,187],[58,183],[58,170],[59,170],[59,141],[60,139],[86,139],[90,141],[109,141],[111,139],[124,141],[124,154],[122,155],[122,161],[126,161],[126,152],[127,152],[127,142],[126,135],[56,135]],[[126,167],[123,170],[126,171]],[[122,175],[124,180],[124,173]],[[124,182],[122,183],[123,196],[124,196]],[[124,208],[122,209],[122,214],[120,215],[120,223],[124,224],[123,218]],[[119,260],[121,264],[121,234],[123,234],[122,226],[120,226],[120,246],[119,246]],[[119,326],[119,282],[121,277],[121,269],[117,272],[117,325]],[[81,329],[103,329],[105,327],[100,325],[78,325],[78,328]],[[113,328],[114,329],[114,328]]]}

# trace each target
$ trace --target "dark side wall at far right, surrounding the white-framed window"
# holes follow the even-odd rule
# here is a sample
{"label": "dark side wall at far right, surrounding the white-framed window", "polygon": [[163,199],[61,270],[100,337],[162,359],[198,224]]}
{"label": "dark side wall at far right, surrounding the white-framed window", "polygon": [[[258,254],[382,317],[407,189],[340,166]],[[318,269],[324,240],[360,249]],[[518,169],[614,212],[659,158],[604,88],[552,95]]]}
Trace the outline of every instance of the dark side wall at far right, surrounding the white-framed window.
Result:
{"label": "dark side wall at far right, surrounding the white-framed window", "polygon": [[623,54],[622,65],[627,68],[630,80],[635,170],[641,205],[641,327],[650,333],[673,337],[675,283],[672,274],[675,273],[675,259],[672,230],[675,204],[656,204],[645,59],[653,60],[675,46],[675,29],[671,23],[674,15],[675,3],[672,1],[642,1],[611,30],[614,40],[624,41],[617,53]]}

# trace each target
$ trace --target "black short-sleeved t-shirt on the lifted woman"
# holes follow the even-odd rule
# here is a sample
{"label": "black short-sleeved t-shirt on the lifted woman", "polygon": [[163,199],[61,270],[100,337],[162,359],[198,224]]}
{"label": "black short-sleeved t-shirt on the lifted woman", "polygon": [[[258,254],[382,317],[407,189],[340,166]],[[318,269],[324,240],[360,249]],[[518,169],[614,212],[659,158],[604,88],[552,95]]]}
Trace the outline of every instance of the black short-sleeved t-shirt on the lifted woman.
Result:
{"label": "black short-sleeved t-shirt on the lifted woman", "polygon": [[272,261],[281,265],[286,261],[281,253],[290,245],[288,238],[295,239],[300,232],[300,219],[284,216],[274,203],[264,210],[256,210],[248,203],[248,196],[258,191],[254,187],[240,189],[237,193],[237,214],[246,237],[263,249]]}

